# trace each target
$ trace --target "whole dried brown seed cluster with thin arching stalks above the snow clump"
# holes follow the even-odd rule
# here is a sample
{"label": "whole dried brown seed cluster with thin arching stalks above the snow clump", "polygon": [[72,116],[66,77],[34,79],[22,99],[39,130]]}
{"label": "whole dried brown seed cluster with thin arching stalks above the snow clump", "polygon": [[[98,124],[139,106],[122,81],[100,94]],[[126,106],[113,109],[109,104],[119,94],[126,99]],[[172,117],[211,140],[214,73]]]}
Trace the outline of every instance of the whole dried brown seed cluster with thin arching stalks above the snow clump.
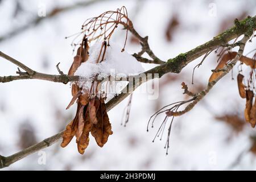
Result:
{"label": "whole dried brown seed cluster with thin arching stalks above the snow clump", "polygon": [[[77,36],[72,42],[72,46],[75,46],[75,48],[76,46],[80,47],[77,49],[77,55],[74,57],[73,64],[69,69],[69,76],[73,76],[81,63],[88,60],[88,43],[93,40],[100,40],[101,38],[104,38],[96,64],[104,60],[106,48],[110,46],[109,40],[112,37],[113,32],[118,27],[118,24],[122,24],[126,29],[125,43],[122,48],[122,51],[124,51],[127,40],[127,27],[131,24],[125,6],[122,6],[121,9],[117,9],[115,11],[106,11],[97,17],[85,20],[84,24],[82,24],[82,31],[75,34]],[[75,43],[77,38],[81,35],[82,39]],[[75,48],[73,51],[75,51]],[[101,88],[101,83],[100,81],[97,81],[96,78],[97,75],[92,82],[90,90],[84,90],[80,88],[79,85],[73,84],[73,98],[67,107],[68,109],[77,102],[75,118],[68,124],[64,131],[61,147],[67,146],[68,143],[71,142],[72,138],[76,136],[77,148],[80,154],[84,154],[85,148],[88,147],[89,133],[92,134],[100,147],[103,147],[108,141],[109,135],[113,134],[106,111],[106,92],[98,90],[98,88]],[[128,119],[126,119],[126,122],[127,121]]]}

